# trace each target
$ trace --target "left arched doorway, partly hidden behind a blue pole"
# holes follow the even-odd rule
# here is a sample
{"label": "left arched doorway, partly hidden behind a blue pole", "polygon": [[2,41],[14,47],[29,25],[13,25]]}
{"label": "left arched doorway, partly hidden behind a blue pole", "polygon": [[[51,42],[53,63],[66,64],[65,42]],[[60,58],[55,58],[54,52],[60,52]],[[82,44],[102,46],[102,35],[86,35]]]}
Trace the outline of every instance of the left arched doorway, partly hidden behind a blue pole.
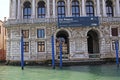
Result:
{"label": "left arched doorway, partly hidden behind a blue pole", "polygon": [[56,34],[56,55],[60,58],[60,39],[62,39],[62,58],[69,58],[69,35],[65,30],[61,30]]}

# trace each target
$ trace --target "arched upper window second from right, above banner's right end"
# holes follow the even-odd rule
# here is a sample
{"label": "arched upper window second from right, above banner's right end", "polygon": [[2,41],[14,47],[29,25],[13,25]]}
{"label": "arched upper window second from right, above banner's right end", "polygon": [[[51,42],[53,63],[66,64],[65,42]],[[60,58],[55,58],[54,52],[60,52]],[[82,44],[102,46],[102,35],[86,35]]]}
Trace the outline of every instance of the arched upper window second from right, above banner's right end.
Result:
{"label": "arched upper window second from right, above banner's right end", "polygon": [[91,0],[86,1],[86,15],[87,16],[94,16],[94,5]]}

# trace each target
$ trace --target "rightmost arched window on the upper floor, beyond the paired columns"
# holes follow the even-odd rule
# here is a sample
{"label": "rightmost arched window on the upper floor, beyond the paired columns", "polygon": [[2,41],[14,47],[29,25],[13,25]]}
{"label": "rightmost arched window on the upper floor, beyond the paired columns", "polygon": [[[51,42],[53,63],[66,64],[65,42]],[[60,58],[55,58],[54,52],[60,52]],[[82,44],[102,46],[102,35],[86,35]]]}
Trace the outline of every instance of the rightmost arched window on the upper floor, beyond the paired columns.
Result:
{"label": "rightmost arched window on the upper floor, beyond the paired columns", "polygon": [[111,0],[106,1],[106,14],[108,17],[113,17],[113,3]]}

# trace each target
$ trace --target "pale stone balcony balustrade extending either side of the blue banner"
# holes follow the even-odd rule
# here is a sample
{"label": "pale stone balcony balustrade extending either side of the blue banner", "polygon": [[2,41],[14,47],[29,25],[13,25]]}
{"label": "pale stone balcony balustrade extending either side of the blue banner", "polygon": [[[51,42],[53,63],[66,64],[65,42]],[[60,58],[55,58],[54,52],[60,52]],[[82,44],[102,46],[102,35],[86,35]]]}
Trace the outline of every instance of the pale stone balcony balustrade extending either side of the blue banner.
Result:
{"label": "pale stone balcony balustrade extending either side of the blue banner", "polygon": [[[120,17],[99,17],[99,23],[104,22],[120,22]],[[57,18],[42,18],[42,19],[8,19],[5,22],[5,26],[16,25],[16,24],[40,24],[40,23],[53,23],[58,22]]]}

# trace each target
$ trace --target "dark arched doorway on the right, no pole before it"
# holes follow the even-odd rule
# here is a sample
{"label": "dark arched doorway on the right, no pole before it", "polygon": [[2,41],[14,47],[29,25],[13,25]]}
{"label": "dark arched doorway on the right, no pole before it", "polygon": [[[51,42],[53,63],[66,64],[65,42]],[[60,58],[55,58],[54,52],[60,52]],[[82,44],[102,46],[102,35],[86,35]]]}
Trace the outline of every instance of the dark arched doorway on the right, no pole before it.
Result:
{"label": "dark arched doorway on the right, no pole before it", "polygon": [[87,33],[87,44],[88,44],[88,53],[89,58],[98,58],[99,57],[99,35],[97,31],[90,30]]}

